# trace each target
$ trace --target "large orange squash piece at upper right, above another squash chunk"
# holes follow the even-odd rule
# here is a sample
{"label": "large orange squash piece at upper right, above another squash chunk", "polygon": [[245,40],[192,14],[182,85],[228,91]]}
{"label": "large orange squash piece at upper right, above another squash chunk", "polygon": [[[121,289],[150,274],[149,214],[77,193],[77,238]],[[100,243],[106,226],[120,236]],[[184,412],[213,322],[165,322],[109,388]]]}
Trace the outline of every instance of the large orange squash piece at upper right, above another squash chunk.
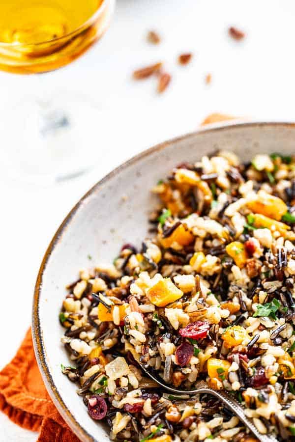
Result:
{"label": "large orange squash piece at upper right, above another squash chunk", "polygon": [[257,197],[247,202],[247,207],[254,213],[260,213],[273,220],[280,221],[288,211],[288,207],[281,198],[260,191]]}

